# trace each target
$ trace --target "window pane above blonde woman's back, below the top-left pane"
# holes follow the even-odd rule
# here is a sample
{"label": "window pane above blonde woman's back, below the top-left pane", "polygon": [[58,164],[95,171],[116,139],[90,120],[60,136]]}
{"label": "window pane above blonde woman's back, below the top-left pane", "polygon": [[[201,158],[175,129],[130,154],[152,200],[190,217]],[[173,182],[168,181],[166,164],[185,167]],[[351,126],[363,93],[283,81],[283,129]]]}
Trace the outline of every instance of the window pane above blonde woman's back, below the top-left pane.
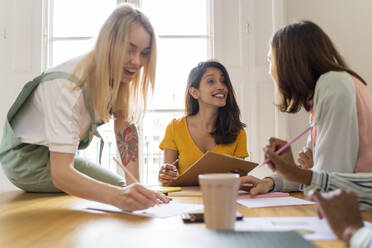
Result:
{"label": "window pane above blonde woman's back, below the top-left pane", "polygon": [[94,39],[54,41],[52,66],[90,51],[94,47],[94,41]]}

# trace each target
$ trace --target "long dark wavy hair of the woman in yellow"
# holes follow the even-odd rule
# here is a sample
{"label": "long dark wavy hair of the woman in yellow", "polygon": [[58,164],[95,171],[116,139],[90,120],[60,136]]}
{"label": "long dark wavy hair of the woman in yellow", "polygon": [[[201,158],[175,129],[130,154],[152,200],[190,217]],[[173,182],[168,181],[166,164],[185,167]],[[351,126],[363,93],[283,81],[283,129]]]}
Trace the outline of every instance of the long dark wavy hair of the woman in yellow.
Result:
{"label": "long dark wavy hair of the woman in yellow", "polygon": [[226,105],[218,109],[218,116],[214,125],[214,130],[210,133],[214,137],[216,144],[231,144],[233,143],[245,124],[240,121],[240,109],[235,100],[235,92],[232,87],[229,74],[226,68],[217,61],[200,62],[194,67],[188,77],[185,93],[185,105],[187,116],[195,115],[199,112],[198,101],[189,93],[190,88],[199,89],[200,80],[208,68],[219,69],[224,78],[224,84],[228,89]]}

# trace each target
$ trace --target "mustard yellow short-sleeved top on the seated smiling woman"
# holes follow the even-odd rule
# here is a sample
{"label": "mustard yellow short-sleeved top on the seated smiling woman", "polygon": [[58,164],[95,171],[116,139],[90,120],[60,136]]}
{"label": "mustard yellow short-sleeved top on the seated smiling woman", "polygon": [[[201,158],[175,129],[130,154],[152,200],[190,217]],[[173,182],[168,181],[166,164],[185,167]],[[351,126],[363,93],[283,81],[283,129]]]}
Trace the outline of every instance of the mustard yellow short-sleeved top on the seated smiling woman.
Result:
{"label": "mustard yellow short-sleeved top on the seated smiling woman", "polygon": [[[203,152],[194,143],[186,123],[186,117],[174,119],[168,124],[165,136],[159,145],[161,150],[170,149],[178,152],[178,171],[180,174],[185,172]],[[242,129],[235,142],[228,145],[216,145],[212,152],[228,154],[236,157],[248,157],[247,135]]]}

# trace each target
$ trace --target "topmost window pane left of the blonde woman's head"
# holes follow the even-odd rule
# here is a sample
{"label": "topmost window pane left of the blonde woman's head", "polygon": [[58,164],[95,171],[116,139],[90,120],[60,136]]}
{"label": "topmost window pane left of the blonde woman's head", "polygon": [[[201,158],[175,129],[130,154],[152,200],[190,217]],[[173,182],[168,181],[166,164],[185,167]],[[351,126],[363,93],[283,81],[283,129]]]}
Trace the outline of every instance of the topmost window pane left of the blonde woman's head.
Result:
{"label": "topmost window pane left of the blonde woman's head", "polygon": [[53,37],[96,36],[116,0],[54,0]]}

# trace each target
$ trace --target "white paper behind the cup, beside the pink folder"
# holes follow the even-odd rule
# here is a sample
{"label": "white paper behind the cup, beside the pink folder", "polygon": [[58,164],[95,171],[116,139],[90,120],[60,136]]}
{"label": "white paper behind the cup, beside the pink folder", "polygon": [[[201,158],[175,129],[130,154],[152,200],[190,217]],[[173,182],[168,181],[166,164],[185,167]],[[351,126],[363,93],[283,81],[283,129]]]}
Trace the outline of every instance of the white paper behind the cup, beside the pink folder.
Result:
{"label": "white paper behind the cup, beside the pink folder", "polygon": [[312,205],[314,202],[302,200],[292,196],[286,197],[257,197],[238,199],[237,202],[247,208],[264,208],[294,205]]}

